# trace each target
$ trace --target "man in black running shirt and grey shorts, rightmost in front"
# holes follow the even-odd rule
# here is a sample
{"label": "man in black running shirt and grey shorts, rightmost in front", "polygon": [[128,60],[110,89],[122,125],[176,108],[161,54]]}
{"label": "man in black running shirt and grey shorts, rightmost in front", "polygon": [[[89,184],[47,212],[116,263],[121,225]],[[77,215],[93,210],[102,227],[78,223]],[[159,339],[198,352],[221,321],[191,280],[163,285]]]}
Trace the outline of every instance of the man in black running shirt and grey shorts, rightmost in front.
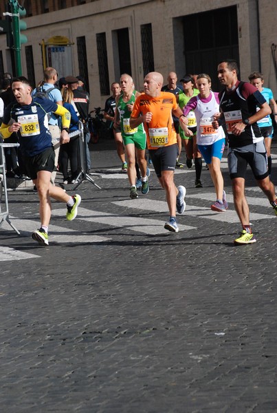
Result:
{"label": "man in black running shirt and grey shorts, rightmost in front", "polygon": [[[228,131],[228,167],[232,179],[234,206],[243,226],[235,244],[256,242],[250,227],[250,213],[245,198],[245,173],[250,165],[258,186],[272,204],[277,215],[277,200],[274,184],[269,180],[267,151],[257,120],[271,113],[263,95],[250,83],[238,80],[238,66],[235,61],[219,63],[218,77],[223,92],[219,94],[221,115],[214,116],[213,126],[218,128],[225,123]],[[260,109],[257,112],[257,107]]]}

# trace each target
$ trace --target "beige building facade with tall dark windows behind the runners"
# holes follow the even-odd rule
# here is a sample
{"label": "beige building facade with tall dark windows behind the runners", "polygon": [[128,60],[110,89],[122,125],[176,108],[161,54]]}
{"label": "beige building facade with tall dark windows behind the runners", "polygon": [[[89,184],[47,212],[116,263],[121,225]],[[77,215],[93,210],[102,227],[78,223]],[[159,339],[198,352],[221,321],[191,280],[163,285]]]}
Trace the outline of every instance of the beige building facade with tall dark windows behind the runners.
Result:
{"label": "beige building facade with tall dark windows behind the runners", "polygon": [[[34,85],[45,65],[56,67],[60,77],[81,75],[92,108],[103,107],[111,83],[123,72],[133,76],[136,89],[152,70],[161,72],[165,83],[170,71],[179,78],[206,72],[218,90],[217,63],[232,58],[241,79],[261,71],[277,96],[274,6],[274,0],[25,0],[23,74]],[[0,72],[12,72],[5,34]]]}

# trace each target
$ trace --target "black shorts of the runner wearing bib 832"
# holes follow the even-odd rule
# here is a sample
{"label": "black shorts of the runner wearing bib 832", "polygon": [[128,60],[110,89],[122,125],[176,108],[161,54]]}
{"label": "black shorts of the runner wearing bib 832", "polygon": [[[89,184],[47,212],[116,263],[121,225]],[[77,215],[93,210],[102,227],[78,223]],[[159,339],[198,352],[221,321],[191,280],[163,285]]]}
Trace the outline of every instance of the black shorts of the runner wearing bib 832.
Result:
{"label": "black shorts of the runner wearing bib 832", "polygon": [[36,179],[38,171],[49,171],[52,173],[55,169],[55,152],[53,147],[49,147],[35,156],[23,156],[22,158],[27,176],[30,176],[31,179]]}

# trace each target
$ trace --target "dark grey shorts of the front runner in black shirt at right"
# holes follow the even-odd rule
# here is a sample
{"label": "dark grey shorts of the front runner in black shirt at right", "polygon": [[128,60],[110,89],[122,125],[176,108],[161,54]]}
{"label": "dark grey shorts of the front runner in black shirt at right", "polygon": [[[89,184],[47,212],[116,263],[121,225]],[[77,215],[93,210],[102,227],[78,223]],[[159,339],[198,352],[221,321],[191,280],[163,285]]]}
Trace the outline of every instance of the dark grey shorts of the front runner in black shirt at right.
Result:
{"label": "dark grey shorts of the front runner in black shirt at right", "polygon": [[269,175],[264,140],[252,145],[228,149],[228,167],[231,179],[245,178],[248,164],[256,180],[265,179]]}

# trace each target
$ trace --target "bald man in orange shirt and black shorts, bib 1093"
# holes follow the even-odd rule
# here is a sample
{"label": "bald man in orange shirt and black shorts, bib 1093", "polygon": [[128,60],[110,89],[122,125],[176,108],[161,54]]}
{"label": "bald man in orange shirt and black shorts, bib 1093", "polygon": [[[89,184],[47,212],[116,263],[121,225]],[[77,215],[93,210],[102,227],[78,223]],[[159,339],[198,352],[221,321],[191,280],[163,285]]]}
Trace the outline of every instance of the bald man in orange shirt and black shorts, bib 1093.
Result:
{"label": "bald man in orange shirt and black shorts, bib 1093", "polygon": [[177,105],[175,95],[161,92],[163,83],[163,76],[158,72],[151,72],[145,76],[144,93],[135,100],[130,126],[134,128],[144,123],[153,167],[166,191],[170,218],[164,224],[164,228],[178,232],[176,209],[178,213],[183,213],[186,209],[186,188],[183,185],[177,188],[174,183],[178,147],[172,113],[179,118],[181,127],[185,118]]}

